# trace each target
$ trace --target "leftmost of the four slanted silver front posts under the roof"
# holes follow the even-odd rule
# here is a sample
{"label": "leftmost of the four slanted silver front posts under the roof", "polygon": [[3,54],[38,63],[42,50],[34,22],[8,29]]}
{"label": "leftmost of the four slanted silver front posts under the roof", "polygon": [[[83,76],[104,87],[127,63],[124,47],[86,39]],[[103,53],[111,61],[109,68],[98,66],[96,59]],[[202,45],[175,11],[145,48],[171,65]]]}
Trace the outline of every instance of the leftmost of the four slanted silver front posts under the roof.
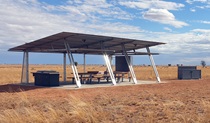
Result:
{"label": "leftmost of the four slanted silver front posts under the roof", "polygon": [[74,74],[74,78],[75,78],[77,87],[80,88],[81,87],[81,82],[80,82],[80,79],[79,79],[77,67],[75,66],[75,63],[74,63],[74,57],[72,55],[71,48],[66,41],[64,41],[64,44],[65,44],[65,47],[66,47],[66,52],[67,52],[68,57],[69,57],[69,61],[70,61],[70,64],[71,64],[72,72]]}

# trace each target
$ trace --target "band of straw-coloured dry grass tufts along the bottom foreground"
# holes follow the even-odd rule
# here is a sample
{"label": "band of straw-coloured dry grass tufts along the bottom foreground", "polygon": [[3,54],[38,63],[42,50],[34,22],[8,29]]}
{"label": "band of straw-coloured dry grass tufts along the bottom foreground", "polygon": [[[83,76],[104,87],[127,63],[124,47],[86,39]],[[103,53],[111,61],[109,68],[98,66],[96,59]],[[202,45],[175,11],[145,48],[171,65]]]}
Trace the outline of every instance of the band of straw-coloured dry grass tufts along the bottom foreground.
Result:
{"label": "band of straw-coloured dry grass tufts along the bottom foreground", "polygon": [[141,100],[128,98],[129,95],[117,100],[117,95],[101,94],[95,97],[96,102],[70,95],[59,106],[51,102],[33,103],[25,92],[15,94],[19,100],[13,102],[13,107],[1,110],[0,123],[210,122],[209,100],[202,100],[199,107],[191,109],[178,99],[157,103],[159,98],[151,93],[143,94]]}

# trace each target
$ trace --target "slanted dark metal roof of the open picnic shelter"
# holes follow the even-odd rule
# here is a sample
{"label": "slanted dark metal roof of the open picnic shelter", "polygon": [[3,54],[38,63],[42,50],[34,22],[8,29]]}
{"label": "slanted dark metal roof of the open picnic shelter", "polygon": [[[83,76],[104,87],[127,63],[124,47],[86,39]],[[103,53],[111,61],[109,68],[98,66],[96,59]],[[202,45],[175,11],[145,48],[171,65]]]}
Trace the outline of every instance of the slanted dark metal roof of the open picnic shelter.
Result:
{"label": "slanted dark metal roof of the open picnic shelter", "polygon": [[64,42],[71,47],[72,53],[102,54],[101,43],[103,43],[108,54],[122,53],[122,44],[126,51],[137,50],[141,48],[165,44],[162,42],[153,42],[137,39],[118,38],[110,36],[61,32],[30,43],[9,49],[9,51],[19,52],[47,52],[47,53],[65,53]]}

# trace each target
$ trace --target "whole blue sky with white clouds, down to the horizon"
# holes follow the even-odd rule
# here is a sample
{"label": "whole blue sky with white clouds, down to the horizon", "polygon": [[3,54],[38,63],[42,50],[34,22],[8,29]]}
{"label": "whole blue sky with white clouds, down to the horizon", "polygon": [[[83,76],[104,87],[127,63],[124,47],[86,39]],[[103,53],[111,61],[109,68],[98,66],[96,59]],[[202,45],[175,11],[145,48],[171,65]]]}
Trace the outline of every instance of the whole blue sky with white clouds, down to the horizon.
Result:
{"label": "whole blue sky with white clouds, down to the horizon", "polygon": [[[210,0],[0,0],[0,64],[22,63],[23,54],[8,52],[11,47],[69,31],[165,42],[151,49],[161,53],[154,57],[158,65],[210,65],[209,13]],[[62,55],[32,53],[30,63],[61,64]]]}

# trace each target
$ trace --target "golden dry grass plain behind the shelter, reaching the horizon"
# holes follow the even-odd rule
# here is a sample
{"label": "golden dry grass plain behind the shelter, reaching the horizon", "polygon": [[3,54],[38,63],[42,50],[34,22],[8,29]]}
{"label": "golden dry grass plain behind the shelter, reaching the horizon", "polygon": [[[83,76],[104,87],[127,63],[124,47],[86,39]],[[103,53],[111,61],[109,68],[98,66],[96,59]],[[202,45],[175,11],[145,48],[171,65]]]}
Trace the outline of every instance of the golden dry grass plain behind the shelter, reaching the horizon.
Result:
{"label": "golden dry grass plain behind the shelter, reaching the horizon", "polygon": [[[114,67],[113,67],[114,69]],[[158,66],[159,75],[162,80],[176,80],[177,79],[177,67],[176,66]],[[210,67],[198,67],[202,71],[202,79],[210,79]],[[20,83],[21,79],[21,65],[0,65],[0,84],[8,83]],[[63,80],[63,66],[62,65],[30,65],[29,75],[30,81],[34,81],[33,72],[38,70],[55,70],[60,73],[60,81]],[[89,65],[86,67],[87,71],[105,71],[106,66],[104,65]],[[78,71],[83,72],[83,66],[78,66]],[[134,66],[136,77],[139,80],[155,80],[155,74],[151,66]],[[72,71],[70,66],[67,67],[67,76],[71,75]]]}

